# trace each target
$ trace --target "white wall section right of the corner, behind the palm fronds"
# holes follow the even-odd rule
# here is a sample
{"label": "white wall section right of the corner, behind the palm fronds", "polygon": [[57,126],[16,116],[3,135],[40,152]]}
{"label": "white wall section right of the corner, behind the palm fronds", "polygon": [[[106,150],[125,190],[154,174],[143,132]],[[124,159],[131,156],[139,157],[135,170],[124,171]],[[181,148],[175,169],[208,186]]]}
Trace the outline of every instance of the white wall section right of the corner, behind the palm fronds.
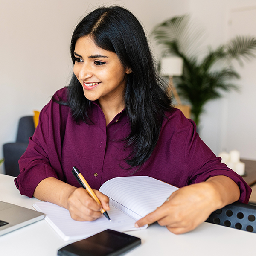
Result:
{"label": "white wall section right of the corner, behind the palm fronds", "polygon": [[[250,11],[255,8],[256,0],[190,0],[189,4],[192,17],[206,28],[205,45],[217,47],[235,35],[248,35],[249,31],[256,37],[256,15]],[[241,10],[247,10],[247,14],[239,14]],[[232,20],[236,22],[233,26]],[[236,68],[241,75],[241,79],[235,81],[240,92],[225,94],[223,99],[206,105],[201,138],[215,154],[237,149],[241,157],[256,160],[256,61],[242,68],[236,65]]]}

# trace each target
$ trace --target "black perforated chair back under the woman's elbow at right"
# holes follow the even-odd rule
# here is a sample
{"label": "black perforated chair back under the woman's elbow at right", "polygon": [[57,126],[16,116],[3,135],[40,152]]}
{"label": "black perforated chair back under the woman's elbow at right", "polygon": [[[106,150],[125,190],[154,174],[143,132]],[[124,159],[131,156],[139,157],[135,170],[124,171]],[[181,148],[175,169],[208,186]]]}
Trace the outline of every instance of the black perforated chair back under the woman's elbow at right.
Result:
{"label": "black perforated chair back under the woman's elbow at right", "polygon": [[206,222],[256,233],[256,206],[235,202],[212,212]]}

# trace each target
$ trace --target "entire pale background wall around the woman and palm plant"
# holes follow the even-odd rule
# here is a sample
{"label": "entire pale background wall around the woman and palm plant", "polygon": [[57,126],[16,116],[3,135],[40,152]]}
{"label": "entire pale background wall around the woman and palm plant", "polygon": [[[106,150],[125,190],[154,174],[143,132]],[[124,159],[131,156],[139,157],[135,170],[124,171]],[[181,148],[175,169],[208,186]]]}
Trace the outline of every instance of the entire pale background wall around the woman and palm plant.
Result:
{"label": "entire pale background wall around the woman and palm plant", "polygon": [[[69,83],[73,29],[103,4],[124,6],[137,16],[156,59],[160,49],[150,34],[176,15],[189,14],[204,27],[202,55],[207,46],[217,47],[236,35],[256,36],[256,0],[0,0],[0,159],[3,144],[16,140],[20,117],[40,111]],[[240,91],[207,103],[200,136],[215,154],[236,149],[241,158],[256,160],[256,61],[236,70]]]}

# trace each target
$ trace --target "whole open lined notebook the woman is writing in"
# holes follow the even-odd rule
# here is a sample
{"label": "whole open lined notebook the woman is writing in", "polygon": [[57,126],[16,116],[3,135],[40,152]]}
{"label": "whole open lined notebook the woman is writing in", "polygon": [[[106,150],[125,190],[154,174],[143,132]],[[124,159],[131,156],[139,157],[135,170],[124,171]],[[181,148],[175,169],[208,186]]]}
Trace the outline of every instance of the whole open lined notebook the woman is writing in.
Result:
{"label": "whole open lined notebook the woman is writing in", "polygon": [[33,207],[45,213],[45,220],[64,241],[79,240],[105,229],[120,232],[137,230],[134,227],[135,221],[162,205],[177,189],[148,176],[117,177],[108,180],[99,191],[110,198],[111,210],[108,215],[111,222],[104,215],[96,221],[75,221],[67,209],[49,202],[38,202]]}

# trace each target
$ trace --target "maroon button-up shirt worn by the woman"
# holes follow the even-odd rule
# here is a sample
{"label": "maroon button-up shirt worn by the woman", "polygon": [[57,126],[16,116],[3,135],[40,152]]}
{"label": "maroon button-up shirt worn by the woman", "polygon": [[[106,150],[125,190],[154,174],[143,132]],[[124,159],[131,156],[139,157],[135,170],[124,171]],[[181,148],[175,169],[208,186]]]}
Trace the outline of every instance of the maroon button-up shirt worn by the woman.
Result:
{"label": "maroon button-up shirt worn by the woman", "polygon": [[[54,97],[66,99],[67,88]],[[122,141],[130,131],[125,110],[107,125],[97,104],[90,112],[93,124],[74,122],[70,108],[52,100],[43,108],[35,134],[20,158],[15,184],[22,195],[33,196],[38,183],[55,177],[79,186],[72,175],[76,166],[94,189],[113,177],[147,175],[177,187],[199,183],[216,175],[233,179],[240,188],[239,201],[248,202],[251,189],[244,180],[221,163],[196,133],[195,123],[179,111],[167,112],[151,157],[133,174],[125,163],[129,149]],[[123,168],[122,168],[123,167]]]}

